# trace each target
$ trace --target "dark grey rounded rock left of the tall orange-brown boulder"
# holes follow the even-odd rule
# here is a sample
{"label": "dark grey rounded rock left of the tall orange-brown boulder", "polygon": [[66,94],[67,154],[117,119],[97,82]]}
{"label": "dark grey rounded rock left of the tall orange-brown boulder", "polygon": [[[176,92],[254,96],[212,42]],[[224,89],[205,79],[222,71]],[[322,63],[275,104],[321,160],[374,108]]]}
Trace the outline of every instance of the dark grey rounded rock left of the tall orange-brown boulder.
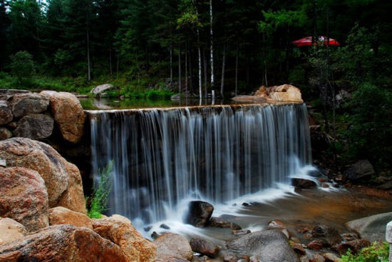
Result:
{"label": "dark grey rounded rock left of the tall orange-brown boulder", "polygon": [[30,114],[18,121],[14,136],[42,140],[48,138],[53,132],[54,120],[51,116],[43,114]]}

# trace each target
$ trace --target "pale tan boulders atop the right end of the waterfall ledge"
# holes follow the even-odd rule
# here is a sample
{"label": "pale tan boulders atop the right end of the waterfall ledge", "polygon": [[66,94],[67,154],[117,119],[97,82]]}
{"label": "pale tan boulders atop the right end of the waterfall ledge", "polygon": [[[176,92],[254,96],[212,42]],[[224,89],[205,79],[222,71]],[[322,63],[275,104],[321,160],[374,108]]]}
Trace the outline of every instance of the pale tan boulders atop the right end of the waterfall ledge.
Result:
{"label": "pale tan boulders atop the right end of the waterfall ledge", "polygon": [[235,96],[233,99],[245,103],[304,102],[301,91],[289,84],[271,87],[261,86],[254,96]]}

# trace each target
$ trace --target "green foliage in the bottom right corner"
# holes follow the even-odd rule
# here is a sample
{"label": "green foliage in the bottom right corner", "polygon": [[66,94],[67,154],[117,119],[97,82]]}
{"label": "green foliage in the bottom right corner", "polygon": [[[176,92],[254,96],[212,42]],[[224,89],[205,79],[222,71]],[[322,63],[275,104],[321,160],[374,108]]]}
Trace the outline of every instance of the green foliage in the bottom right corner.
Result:
{"label": "green foliage in the bottom right corner", "polygon": [[346,255],[341,256],[341,262],[388,262],[389,244],[374,242],[368,248],[362,248],[359,253],[353,255],[347,251]]}

